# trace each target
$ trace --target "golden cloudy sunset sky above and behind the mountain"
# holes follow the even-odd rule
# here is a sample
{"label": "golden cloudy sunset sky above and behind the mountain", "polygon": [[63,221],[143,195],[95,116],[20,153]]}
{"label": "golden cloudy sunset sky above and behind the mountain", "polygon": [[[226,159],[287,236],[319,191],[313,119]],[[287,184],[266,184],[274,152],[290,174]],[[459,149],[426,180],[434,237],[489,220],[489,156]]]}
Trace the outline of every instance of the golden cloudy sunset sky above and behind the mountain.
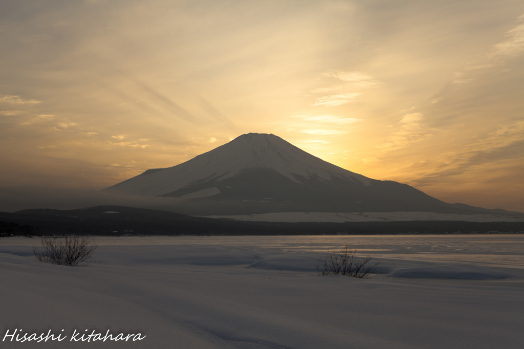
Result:
{"label": "golden cloudy sunset sky above and behind the mountain", "polygon": [[99,190],[255,132],[524,212],[522,0],[5,0],[0,51],[0,190]]}

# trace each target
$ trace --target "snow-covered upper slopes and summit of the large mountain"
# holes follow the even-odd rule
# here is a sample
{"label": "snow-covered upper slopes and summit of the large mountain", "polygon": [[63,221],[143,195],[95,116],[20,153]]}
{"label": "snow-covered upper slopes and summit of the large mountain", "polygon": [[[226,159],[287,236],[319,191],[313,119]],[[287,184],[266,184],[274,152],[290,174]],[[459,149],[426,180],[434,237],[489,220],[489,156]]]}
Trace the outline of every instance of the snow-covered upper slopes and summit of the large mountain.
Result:
{"label": "snow-covered upper slopes and summit of the large mountain", "polygon": [[293,177],[316,177],[325,181],[333,176],[360,181],[369,186],[369,178],[315,157],[273,134],[249,133],[227,144],[205,152],[180,165],[137,176],[111,187],[126,194],[159,196],[201,180],[223,180],[251,169],[274,170],[298,182]]}

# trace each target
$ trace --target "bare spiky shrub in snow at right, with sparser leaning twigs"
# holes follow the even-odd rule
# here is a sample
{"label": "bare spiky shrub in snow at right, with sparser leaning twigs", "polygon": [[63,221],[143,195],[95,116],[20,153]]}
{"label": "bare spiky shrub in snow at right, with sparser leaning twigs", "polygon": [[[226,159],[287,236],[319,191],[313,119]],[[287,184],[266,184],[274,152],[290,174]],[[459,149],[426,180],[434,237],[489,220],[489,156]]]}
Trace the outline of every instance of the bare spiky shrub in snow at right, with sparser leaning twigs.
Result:
{"label": "bare spiky shrub in snow at right, with sparser leaning twigs", "polygon": [[328,249],[324,258],[318,260],[316,270],[319,275],[333,275],[341,274],[352,276],[359,279],[368,279],[371,274],[374,274],[375,267],[380,263],[374,265],[367,265],[372,257],[367,255],[365,257],[357,257],[355,253],[356,248],[350,248],[345,244],[339,252],[334,252]]}

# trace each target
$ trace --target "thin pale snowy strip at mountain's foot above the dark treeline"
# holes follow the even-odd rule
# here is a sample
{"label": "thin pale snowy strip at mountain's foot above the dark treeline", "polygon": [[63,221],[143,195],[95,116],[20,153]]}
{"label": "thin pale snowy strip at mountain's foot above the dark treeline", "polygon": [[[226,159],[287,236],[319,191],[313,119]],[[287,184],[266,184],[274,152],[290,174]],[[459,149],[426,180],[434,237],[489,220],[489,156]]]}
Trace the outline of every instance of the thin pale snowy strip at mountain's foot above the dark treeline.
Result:
{"label": "thin pale snowy strip at mountain's foot above the dark treeline", "polygon": [[253,222],[400,222],[400,221],[465,221],[465,222],[524,222],[524,216],[492,214],[455,214],[434,212],[272,212],[243,215],[212,215],[208,218]]}

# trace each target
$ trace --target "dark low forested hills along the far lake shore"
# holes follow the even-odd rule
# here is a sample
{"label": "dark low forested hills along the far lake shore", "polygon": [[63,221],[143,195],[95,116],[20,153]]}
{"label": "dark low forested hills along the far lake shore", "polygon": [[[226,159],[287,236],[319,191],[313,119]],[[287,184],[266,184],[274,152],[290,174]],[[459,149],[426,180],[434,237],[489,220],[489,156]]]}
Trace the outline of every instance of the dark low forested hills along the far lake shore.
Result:
{"label": "dark low forested hills along the far lake shore", "polygon": [[524,222],[241,222],[192,217],[167,211],[97,206],[80,210],[23,210],[0,213],[8,235],[320,235],[398,233],[523,233]]}

